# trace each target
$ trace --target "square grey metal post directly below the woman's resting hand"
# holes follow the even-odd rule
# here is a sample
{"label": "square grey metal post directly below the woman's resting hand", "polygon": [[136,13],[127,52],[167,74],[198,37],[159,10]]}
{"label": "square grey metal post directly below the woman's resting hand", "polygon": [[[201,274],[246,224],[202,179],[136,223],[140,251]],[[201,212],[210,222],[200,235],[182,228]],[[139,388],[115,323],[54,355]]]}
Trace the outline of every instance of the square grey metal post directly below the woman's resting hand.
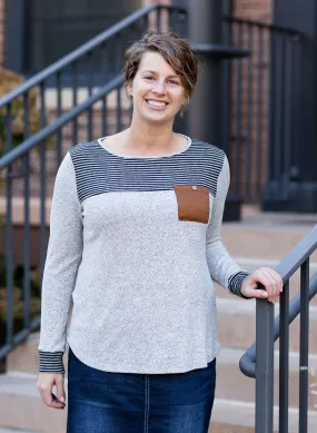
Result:
{"label": "square grey metal post directly below the woman's resting hand", "polygon": [[274,305],[257,301],[256,433],[274,426]]}

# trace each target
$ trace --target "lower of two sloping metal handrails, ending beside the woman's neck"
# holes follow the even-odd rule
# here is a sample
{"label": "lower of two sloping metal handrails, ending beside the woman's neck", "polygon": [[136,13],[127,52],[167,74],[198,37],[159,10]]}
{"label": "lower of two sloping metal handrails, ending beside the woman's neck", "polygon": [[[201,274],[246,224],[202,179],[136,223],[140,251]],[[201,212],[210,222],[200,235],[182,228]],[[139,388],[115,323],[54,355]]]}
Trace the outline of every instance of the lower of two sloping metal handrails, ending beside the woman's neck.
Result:
{"label": "lower of two sloping metal handrails, ending beside the woman's neck", "polygon": [[95,102],[99,101],[103,96],[106,96],[112,90],[116,90],[119,86],[122,86],[123,82],[125,79],[122,75],[113,78],[106,86],[100,87],[97,94],[90,96],[80,105],[76,106],[71,110],[58,117],[57,120],[55,120],[52,124],[42,128],[39,132],[32,135],[30,138],[21,142],[18,147],[8,151],[8,154],[3,155],[2,158],[0,158],[0,170],[8,167],[16,159],[23,156],[33,147],[36,147],[39,142],[46,140],[52,134],[57,132],[62,126],[65,126],[66,124],[78,117],[80,114],[86,111]]}

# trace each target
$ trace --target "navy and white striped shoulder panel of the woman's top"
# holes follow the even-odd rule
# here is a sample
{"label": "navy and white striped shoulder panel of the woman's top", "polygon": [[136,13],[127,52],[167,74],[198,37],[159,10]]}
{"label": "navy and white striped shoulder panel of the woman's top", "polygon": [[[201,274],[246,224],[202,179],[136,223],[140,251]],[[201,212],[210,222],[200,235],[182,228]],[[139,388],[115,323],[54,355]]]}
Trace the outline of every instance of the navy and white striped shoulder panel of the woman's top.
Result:
{"label": "navy and white striped shoulder panel of the woman's top", "polygon": [[70,149],[80,203],[110,191],[170,190],[175,185],[199,185],[214,197],[224,166],[225,152],[206,142],[192,140],[182,152],[168,157],[120,157],[98,141]]}

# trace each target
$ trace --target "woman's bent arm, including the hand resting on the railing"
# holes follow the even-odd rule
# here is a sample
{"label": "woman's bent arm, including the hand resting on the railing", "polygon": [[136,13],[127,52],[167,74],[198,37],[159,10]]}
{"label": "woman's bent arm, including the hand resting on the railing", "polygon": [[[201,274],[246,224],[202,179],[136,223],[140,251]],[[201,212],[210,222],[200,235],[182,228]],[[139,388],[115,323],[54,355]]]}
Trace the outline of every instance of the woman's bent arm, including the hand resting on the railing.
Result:
{"label": "woman's bent arm, including the hand resting on the railing", "polygon": [[[267,267],[261,267],[252,274],[241,269],[222,244],[221,224],[229,183],[230,169],[224,154],[222,169],[218,177],[217,194],[214,197],[206,238],[207,262],[211,278],[237,296],[266,297],[269,302],[275,302],[283,291],[280,276]],[[265,286],[265,291],[257,289],[258,283]]]}

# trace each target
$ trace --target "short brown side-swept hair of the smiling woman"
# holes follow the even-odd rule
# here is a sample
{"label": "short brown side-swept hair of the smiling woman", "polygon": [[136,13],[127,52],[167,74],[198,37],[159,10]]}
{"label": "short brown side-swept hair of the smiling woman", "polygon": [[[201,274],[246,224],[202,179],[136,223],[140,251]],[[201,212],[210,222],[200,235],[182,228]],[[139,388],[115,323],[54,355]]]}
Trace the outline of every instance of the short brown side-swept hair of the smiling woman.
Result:
{"label": "short brown side-swept hair of the smiling woman", "polygon": [[137,40],[125,53],[126,85],[133,80],[139,69],[142,56],[155,51],[179,75],[187,99],[194,92],[198,77],[198,59],[186,39],[171,32],[149,31]]}

